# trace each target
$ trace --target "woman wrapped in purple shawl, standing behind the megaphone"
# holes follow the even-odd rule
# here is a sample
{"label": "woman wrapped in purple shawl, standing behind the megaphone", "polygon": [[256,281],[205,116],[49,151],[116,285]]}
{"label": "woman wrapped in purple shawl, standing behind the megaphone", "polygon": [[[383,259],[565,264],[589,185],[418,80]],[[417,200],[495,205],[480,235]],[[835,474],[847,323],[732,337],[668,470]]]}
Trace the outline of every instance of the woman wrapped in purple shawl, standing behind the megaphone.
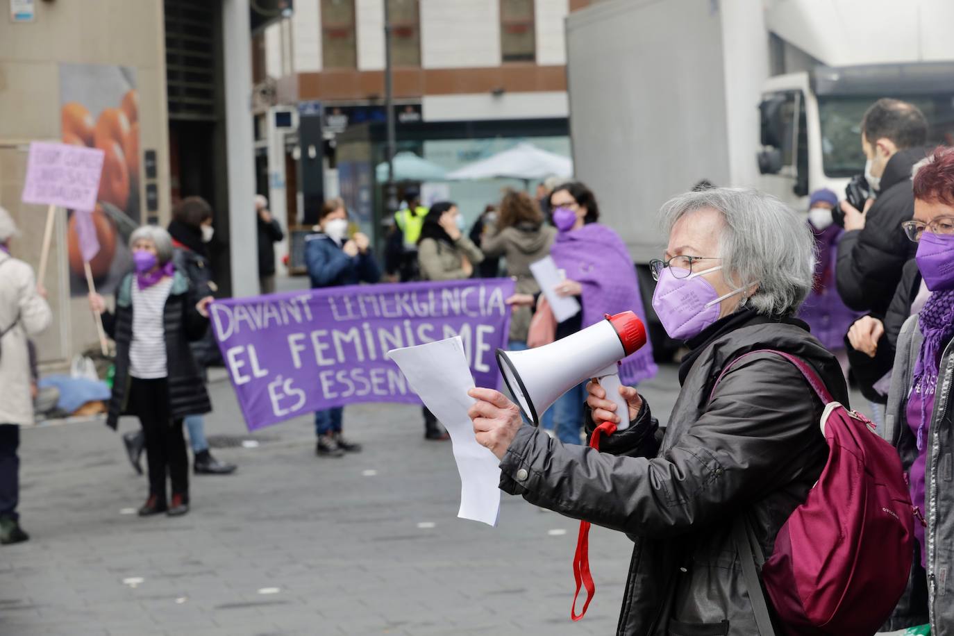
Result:
{"label": "woman wrapped in purple shawl, standing behind the megaphone", "polygon": [[[599,208],[590,189],[578,181],[564,183],[550,193],[550,210],[557,236],[550,256],[566,278],[560,296],[573,296],[582,310],[556,325],[556,339],[566,338],[602,320],[606,314],[633,311],[646,321],[633,260],[623,239],[598,221]],[[653,378],[653,347],[649,342],[620,365],[619,377],[634,385]],[[575,386],[553,404],[556,437],[580,443],[583,426],[584,384]]]}

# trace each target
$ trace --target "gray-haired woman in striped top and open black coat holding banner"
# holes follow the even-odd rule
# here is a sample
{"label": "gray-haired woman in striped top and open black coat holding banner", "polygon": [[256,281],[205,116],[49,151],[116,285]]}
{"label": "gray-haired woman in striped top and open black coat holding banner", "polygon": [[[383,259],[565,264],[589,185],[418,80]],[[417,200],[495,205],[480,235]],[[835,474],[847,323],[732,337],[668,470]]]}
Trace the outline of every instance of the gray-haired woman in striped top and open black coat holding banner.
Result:
{"label": "gray-haired woman in striped top and open black coat holding banner", "polygon": [[[212,297],[199,298],[185,273],[173,263],[169,233],[143,225],[130,236],[135,272],[119,283],[115,312],[103,297],[90,295],[93,311],[115,339],[113,397],[106,423],[116,428],[120,415],[142,422],[149,462],[149,498],[139,508],[146,517],[189,511],[189,461],[182,419],[212,410],[189,347],[208,328]],[[166,473],[172,500],[166,498]]]}

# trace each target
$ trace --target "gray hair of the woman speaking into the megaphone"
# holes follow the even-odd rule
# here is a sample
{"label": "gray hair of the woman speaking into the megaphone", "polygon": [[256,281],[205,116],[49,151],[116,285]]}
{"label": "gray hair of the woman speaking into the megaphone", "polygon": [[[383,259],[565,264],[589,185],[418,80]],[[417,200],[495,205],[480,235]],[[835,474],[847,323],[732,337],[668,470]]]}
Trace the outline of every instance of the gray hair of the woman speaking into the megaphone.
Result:
{"label": "gray hair of the woman speaking into the megaphone", "polygon": [[[710,188],[663,205],[668,231],[685,215],[713,208],[725,228],[719,254],[726,284],[758,284],[745,304],[765,316],[792,316],[808,296],[815,275],[815,238],[808,224],[775,196],[750,188]],[[709,255],[698,255],[709,256]]]}

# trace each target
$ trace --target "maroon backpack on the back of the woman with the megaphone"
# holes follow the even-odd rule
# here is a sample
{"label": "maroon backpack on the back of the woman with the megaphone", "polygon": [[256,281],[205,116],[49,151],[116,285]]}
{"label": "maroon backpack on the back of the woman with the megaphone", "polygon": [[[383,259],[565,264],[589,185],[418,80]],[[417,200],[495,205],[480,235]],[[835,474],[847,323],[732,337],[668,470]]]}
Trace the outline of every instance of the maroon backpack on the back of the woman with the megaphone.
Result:
{"label": "maroon backpack on the back of the woman with the megaphone", "polygon": [[[762,349],[733,360],[771,353],[787,359],[825,404],[821,432],[828,462],[819,481],[778,530],[761,581],[787,634],[870,636],[891,615],[907,585],[914,557],[914,506],[901,460],[874,424],[832,399],[803,360]],[[713,387],[713,394],[716,386]],[[712,394],[710,394],[712,400]],[[733,528],[739,561],[761,636],[773,636],[747,523]]]}

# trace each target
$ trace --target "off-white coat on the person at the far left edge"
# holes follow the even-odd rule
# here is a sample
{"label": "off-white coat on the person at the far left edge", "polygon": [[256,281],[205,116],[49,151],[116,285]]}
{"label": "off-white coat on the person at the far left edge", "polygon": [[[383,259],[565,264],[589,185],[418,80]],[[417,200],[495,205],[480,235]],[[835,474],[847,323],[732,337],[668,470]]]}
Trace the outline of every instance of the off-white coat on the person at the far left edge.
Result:
{"label": "off-white coat on the person at the far left edge", "polygon": [[27,263],[0,252],[0,423],[33,424],[27,338],[50,326],[50,305],[36,292]]}

